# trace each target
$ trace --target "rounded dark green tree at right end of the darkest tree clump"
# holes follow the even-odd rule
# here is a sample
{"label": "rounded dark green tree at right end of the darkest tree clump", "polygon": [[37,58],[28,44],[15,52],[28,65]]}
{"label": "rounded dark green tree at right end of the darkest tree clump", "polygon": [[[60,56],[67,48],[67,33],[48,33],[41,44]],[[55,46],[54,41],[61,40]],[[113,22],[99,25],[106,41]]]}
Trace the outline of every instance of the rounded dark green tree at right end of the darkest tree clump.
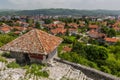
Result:
{"label": "rounded dark green tree at right end of the darkest tree clump", "polygon": [[108,58],[108,51],[104,47],[90,45],[85,48],[87,58],[91,61],[106,60]]}

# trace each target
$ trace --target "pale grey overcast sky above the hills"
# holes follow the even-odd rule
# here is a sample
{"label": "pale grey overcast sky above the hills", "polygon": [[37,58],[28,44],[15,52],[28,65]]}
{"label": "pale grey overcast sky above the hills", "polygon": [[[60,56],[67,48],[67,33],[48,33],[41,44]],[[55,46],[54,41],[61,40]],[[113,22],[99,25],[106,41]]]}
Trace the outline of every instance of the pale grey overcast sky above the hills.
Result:
{"label": "pale grey overcast sky above the hills", "polygon": [[120,0],[0,0],[0,9],[42,8],[120,10]]}

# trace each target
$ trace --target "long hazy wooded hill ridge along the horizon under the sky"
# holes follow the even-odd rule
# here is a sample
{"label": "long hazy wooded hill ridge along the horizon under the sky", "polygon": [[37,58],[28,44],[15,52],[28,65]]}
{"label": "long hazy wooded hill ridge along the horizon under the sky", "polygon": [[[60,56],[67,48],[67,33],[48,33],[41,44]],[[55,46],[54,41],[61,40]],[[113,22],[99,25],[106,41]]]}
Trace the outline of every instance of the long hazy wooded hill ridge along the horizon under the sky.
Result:
{"label": "long hazy wooded hill ridge along the horizon under the sky", "polygon": [[76,9],[37,9],[37,10],[3,10],[0,15],[120,15],[119,10],[76,10]]}

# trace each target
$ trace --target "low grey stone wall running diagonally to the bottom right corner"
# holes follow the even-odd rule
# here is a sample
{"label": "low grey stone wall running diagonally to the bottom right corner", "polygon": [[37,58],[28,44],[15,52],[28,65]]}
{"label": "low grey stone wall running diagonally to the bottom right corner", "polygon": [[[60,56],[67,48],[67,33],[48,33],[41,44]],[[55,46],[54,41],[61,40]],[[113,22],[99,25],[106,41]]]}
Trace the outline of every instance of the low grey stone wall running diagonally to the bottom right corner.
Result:
{"label": "low grey stone wall running diagonally to the bottom right corner", "polygon": [[115,77],[113,75],[98,71],[93,68],[89,68],[80,64],[72,63],[69,61],[62,60],[60,58],[55,58],[55,61],[62,62],[68,65],[71,65],[72,67],[81,70],[85,75],[88,77],[94,79],[94,80],[120,80],[120,78]]}

